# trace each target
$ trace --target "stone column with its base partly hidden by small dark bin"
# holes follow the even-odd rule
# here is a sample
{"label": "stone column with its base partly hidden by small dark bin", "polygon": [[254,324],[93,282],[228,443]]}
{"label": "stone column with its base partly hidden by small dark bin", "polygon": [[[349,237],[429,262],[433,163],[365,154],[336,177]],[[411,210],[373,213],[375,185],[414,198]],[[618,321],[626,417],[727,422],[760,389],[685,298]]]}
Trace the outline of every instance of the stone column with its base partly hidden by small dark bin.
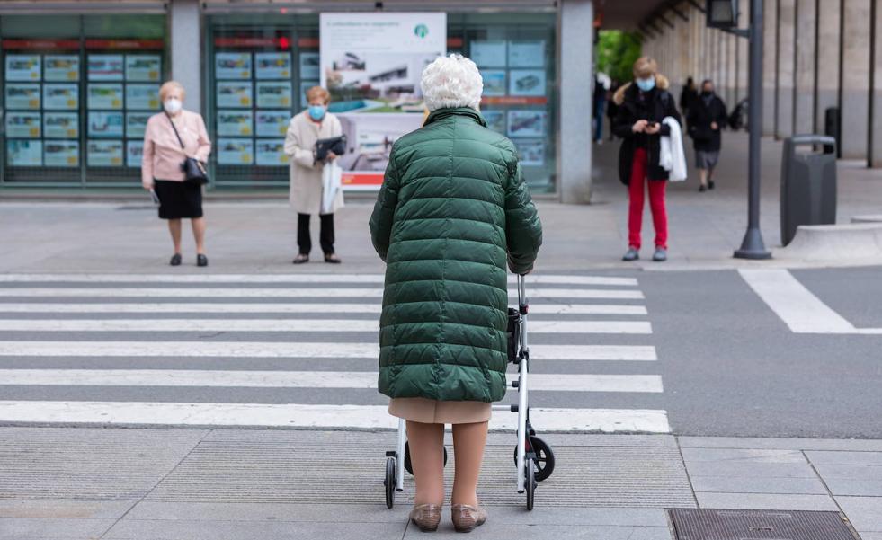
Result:
{"label": "stone column with its base partly hidden by small dark bin", "polygon": [[824,0],[817,16],[817,123],[816,133],[824,133],[824,115],[830,107],[839,107],[839,3]]}

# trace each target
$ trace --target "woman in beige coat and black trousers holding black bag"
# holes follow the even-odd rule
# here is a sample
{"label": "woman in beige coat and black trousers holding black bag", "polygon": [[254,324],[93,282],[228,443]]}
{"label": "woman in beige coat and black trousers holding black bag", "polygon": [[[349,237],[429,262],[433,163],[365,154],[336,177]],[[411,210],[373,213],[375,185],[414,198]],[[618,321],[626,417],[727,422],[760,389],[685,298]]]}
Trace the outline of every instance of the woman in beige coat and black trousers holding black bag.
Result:
{"label": "woman in beige coat and black trousers holding black bag", "polygon": [[[285,154],[290,157],[290,203],[297,212],[298,255],[294,264],[309,261],[312,238],[309,220],[318,214],[321,223],[319,243],[325,253],[325,262],[339,263],[334,253],[334,212],[343,207],[343,192],[337,193],[331,213],[322,214],[322,170],[324,162],[316,162],[316,141],[343,134],[340,120],[327,111],[331,94],[321,86],[307,90],[309,108],[291,119],[285,136]],[[336,159],[328,153],[326,162]]]}

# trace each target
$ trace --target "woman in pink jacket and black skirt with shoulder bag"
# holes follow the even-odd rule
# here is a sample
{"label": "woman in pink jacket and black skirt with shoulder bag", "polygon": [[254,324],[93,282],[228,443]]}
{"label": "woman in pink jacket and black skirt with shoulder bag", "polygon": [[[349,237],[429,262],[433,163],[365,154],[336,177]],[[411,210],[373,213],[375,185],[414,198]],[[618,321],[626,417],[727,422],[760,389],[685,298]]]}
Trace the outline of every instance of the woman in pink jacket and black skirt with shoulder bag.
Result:
{"label": "woman in pink jacket and black skirt with shoulder bag", "polygon": [[141,185],[156,194],[159,218],[168,221],[174,244],[169,263],[172,266],[181,264],[181,220],[190,219],[196,242],[196,265],[208,266],[202,184],[187,179],[183,164],[188,158],[205,164],[211,153],[211,141],[202,116],[183,109],[185,96],[183,86],[175,81],[168,81],[159,89],[164,111],[147,120],[141,156]]}

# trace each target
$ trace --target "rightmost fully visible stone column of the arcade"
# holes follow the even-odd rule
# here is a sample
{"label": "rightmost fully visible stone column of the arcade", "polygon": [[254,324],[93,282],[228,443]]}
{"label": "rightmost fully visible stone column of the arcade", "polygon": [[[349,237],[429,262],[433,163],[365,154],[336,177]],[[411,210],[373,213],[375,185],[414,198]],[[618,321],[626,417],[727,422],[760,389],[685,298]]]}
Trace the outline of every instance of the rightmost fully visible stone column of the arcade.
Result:
{"label": "rightmost fully visible stone column of the arcade", "polygon": [[842,33],[842,157],[867,157],[869,3],[844,0]]}

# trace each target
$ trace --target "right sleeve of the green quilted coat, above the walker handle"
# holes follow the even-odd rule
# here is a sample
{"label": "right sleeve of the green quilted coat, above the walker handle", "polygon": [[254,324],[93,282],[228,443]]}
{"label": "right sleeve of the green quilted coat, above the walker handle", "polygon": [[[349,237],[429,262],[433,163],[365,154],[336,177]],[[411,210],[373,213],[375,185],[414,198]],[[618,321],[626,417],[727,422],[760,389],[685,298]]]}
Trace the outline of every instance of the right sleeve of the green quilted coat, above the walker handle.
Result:
{"label": "right sleeve of the green quilted coat, above the walker handle", "polygon": [[542,222],[523,179],[520,162],[513,165],[505,189],[505,238],[509,269],[516,274],[533,270],[542,245]]}

